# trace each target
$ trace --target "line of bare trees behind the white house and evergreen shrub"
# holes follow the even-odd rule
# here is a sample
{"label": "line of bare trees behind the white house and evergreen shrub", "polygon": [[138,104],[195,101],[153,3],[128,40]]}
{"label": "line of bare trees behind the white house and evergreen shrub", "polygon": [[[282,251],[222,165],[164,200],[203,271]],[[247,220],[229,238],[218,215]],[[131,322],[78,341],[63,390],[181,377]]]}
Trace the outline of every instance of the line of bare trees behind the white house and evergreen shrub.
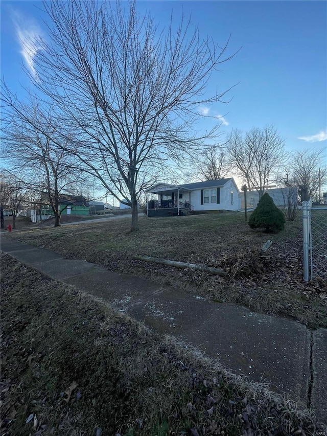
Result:
{"label": "line of bare trees behind the white house and evergreen shrub", "polygon": [[319,202],[327,185],[325,154],[324,149],[287,153],[285,140],[273,125],[245,133],[236,129],[191,159],[186,177],[204,181],[238,176],[260,198],[269,187],[289,187],[298,190],[300,201],[312,197]]}

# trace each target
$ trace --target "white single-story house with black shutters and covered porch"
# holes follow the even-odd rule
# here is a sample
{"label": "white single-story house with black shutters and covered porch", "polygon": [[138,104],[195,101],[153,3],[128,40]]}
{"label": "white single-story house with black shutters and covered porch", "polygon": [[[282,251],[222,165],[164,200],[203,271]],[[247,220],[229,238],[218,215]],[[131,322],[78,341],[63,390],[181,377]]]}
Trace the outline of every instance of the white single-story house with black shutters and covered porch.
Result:
{"label": "white single-story house with black shutters and covered porch", "polygon": [[237,211],[239,189],[232,177],[185,185],[160,183],[147,190],[157,200],[147,201],[149,217],[186,215],[190,212]]}

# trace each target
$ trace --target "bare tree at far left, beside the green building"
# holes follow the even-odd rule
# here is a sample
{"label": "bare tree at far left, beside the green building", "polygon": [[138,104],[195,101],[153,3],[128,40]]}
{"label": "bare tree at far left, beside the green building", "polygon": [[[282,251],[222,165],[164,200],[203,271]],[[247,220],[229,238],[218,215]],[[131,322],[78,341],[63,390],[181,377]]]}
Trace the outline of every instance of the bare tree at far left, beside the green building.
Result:
{"label": "bare tree at far left, beside the green building", "polygon": [[[34,192],[37,203],[49,204],[60,225],[62,194],[77,194],[86,185],[76,157],[62,137],[55,111],[36,97],[20,102],[2,88],[2,149],[12,172],[19,172],[20,186]],[[85,191],[85,189],[84,189]]]}

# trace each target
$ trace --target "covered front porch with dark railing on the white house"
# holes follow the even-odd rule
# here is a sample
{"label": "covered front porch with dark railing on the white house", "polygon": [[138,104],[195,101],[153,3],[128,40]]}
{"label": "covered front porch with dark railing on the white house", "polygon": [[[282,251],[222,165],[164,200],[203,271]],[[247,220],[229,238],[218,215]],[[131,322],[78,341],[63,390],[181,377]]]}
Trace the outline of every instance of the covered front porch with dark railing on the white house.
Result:
{"label": "covered front porch with dark railing on the white house", "polygon": [[[156,200],[150,200],[155,194]],[[190,190],[175,186],[154,187],[147,193],[147,215],[149,217],[183,216],[194,211],[190,203]]]}

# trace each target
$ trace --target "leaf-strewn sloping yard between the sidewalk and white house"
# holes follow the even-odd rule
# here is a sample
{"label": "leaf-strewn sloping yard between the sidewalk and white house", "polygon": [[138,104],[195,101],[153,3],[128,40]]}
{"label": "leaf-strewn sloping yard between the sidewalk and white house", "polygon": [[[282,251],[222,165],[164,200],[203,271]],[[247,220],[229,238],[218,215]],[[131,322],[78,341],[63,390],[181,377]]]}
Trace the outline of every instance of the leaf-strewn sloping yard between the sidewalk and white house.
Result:
{"label": "leaf-strewn sloping yard between the sidewalk and white house", "polygon": [[[36,228],[9,237],[48,248],[66,258],[85,259],[108,269],[148,277],[197,292],[217,302],[291,317],[310,328],[327,327],[327,284],[302,282],[300,218],[278,234],[253,231],[238,212],[185,217],[140,218],[60,228]],[[9,235],[9,234],[8,234]],[[263,253],[268,240],[272,247]],[[192,269],[135,260],[145,255],[222,268],[224,278]]]}

